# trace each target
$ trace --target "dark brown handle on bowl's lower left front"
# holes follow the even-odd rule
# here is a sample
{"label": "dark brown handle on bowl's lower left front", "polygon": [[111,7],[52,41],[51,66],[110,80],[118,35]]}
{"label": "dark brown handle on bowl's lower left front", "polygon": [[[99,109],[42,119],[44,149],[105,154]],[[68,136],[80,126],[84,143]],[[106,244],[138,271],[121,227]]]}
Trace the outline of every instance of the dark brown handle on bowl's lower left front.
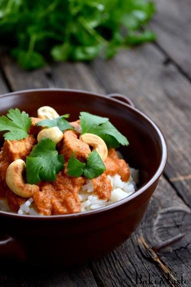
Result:
{"label": "dark brown handle on bowl's lower left front", "polygon": [[24,261],[25,251],[17,239],[9,235],[3,235],[0,236],[0,257]]}

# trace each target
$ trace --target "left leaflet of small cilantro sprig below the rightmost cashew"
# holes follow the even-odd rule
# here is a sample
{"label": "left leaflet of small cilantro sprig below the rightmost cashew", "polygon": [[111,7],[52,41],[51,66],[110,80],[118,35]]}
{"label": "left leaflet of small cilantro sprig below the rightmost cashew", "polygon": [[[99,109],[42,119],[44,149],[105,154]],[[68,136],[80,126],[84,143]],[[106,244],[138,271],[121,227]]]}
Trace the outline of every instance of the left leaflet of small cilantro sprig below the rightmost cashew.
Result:
{"label": "left leaflet of small cilantro sprig below the rightmost cashew", "polygon": [[73,152],[72,156],[68,160],[67,164],[67,173],[70,176],[81,176],[84,173],[84,166],[86,165],[84,162],[79,161],[74,157],[75,151]]}

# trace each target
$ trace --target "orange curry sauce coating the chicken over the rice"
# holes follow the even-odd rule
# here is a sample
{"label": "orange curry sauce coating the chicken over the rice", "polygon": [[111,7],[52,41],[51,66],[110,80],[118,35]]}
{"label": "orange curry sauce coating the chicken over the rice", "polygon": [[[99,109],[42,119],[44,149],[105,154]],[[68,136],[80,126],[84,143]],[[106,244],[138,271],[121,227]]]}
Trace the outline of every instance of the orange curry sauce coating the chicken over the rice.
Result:
{"label": "orange curry sauce coating the chicken over the rice", "polygon": [[[19,205],[24,203],[27,198],[13,193],[5,182],[5,174],[8,165],[21,158],[24,161],[26,156],[32,150],[32,147],[37,143],[36,135],[41,127],[35,123],[41,120],[40,118],[32,118],[32,125],[29,128],[27,138],[21,140],[5,140],[0,152],[0,197],[6,197],[10,210],[17,212]],[[79,120],[71,123],[74,127],[79,127]],[[80,212],[81,202],[78,197],[78,192],[81,186],[86,182],[83,176],[71,177],[66,173],[67,161],[76,150],[75,157],[80,161],[85,162],[88,154],[91,152],[87,143],[78,139],[79,134],[73,130],[64,131],[61,143],[57,144],[59,154],[63,154],[66,161],[65,167],[56,175],[56,180],[53,182],[39,182],[39,190],[33,194],[34,205],[38,212],[44,215],[68,214]],[[121,175],[123,181],[128,181],[130,171],[124,159],[119,159],[115,149],[108,150],[108,156],[105,160],[106,171],[100,176],[92,180],[94,193],[100,199],[109,200],[111,197],[112,185],[107,175]]]}

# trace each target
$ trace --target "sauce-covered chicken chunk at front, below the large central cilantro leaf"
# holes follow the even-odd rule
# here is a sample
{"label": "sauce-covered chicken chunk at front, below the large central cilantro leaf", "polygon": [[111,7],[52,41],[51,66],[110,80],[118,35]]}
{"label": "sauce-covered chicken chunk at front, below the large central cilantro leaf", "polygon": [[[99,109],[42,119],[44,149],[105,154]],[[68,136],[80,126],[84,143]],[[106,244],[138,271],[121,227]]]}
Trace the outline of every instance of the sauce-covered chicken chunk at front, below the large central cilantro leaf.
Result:
{"label": "sauce-covered chicken chunk at front, below the large central cilantro leaf", "polygon": [[71,177],[63,172],[52,183],[40,182],[41,191],[34,193],[37,210],[44,215],[76,213],[81,210],[78,192],[84,183],[83,177]]}

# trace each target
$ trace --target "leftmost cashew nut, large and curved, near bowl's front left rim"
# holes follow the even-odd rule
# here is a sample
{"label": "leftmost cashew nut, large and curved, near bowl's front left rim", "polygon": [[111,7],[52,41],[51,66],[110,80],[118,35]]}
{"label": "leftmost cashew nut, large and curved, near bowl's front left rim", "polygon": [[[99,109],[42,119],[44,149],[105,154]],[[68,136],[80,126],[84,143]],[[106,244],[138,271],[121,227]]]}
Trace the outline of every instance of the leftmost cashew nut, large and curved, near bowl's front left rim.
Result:
{"label": "leftmost cashew nut, large and curved, near bowl's front left rim", "polygon": [[35,184],[24,183],[22,172],[26,165],[22,159],[16,159],[6,170],[6,184],[15,194],[22,197],[31,197],[39,187]]}

